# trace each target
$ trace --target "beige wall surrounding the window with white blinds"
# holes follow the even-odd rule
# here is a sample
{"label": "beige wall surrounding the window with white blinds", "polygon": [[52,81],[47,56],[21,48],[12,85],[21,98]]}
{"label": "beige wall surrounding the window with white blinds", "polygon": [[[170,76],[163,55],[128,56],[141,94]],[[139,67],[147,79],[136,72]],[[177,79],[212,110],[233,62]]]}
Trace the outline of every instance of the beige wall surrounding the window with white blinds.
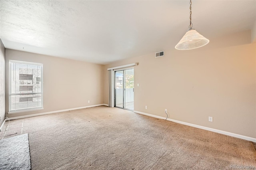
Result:
{"label": "beige wall surrounding the window with white blinds", "polygon": [[[43,63],[44,110],[6,114],[8,117],[45,113],[103,103],[103,65],[6,49],[6,101],[9,60]],[[90,100],[90,103],[88,103]],[[6,102],[6,113],[9,111]]]}

